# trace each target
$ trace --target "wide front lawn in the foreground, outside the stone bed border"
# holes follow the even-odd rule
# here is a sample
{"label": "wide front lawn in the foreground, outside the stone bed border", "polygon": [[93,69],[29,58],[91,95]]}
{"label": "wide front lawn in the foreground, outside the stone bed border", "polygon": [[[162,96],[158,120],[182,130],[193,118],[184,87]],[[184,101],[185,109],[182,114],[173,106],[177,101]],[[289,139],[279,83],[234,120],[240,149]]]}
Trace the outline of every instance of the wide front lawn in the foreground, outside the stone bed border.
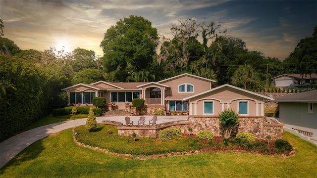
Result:
{"label": "wide front lawn in the foreground, outside the stone bed border", "polygon": [[199,153],[160,159],[116,157],[74,143],[71,129],[35,142],[0,170],[1,178],[315,178],[317,147],[284,132],[296,154]]}

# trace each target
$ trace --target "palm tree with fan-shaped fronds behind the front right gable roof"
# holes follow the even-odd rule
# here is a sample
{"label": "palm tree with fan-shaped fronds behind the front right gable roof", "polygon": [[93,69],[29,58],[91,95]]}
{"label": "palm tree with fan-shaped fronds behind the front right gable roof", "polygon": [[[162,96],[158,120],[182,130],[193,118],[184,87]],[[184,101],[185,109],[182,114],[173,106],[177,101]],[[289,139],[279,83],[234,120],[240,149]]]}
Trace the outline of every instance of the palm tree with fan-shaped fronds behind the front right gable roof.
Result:
{"label": "palm tree with fan-shaped fronds behind the front right gable roof", "polygon": [[247,85],[257,85],[259,78],[256,74],[256,71],[250,64],[241,65],[238,69],[234,72],[233,76],[231,77],[232,85],[236,87],[243,86],[244,89],[247,89]]}

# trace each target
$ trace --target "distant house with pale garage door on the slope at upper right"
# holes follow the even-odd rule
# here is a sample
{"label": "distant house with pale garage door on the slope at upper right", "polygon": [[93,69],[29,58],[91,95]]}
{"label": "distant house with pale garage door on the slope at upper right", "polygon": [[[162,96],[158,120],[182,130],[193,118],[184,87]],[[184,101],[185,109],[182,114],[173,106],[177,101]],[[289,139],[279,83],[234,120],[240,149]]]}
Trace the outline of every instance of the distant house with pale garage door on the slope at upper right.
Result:
{"label": "distant house with pale garage door on the slope at upper right", "polygon": [[272,86],[279,88],[317,85],[317,74],[282,74],[271,80]]}

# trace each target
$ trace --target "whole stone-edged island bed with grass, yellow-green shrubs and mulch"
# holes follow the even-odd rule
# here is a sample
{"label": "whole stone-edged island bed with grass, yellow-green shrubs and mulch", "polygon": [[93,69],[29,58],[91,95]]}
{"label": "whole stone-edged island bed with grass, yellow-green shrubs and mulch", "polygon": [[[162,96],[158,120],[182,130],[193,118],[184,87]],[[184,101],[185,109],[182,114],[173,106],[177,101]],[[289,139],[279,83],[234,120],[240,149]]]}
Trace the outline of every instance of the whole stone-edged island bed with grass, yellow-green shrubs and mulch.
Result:
{"label": "whole stone-edged island bed with grass, yellow-green shrubs and mulch", "polygon": [[[111,130],[112,134],[107,134]],[[181,134],[179,128],[170,128],[159,132],[159,138],[136,138],[137,135],[120,136],[117,129],[110,125],[98,125],[92,132],[84,126],[74,129],[77,141],[84,145],[108,149],[110,152],[132,155],[152,155],[170,152],[189,152],[199,150],[201,152],[254,152],[257,154],[269,154],[279,156],[292,155],[292,149],[279,149],[273,141],[256,140],[249,133],[237,134],[237,138],[223,138],[214,136],[211,131],[201,131],[197,135]],[[288,143],[282,140],[283,145]],[[289,144],[289,143],[288,143]],[[281,144],[278,144],[281,145]]]}

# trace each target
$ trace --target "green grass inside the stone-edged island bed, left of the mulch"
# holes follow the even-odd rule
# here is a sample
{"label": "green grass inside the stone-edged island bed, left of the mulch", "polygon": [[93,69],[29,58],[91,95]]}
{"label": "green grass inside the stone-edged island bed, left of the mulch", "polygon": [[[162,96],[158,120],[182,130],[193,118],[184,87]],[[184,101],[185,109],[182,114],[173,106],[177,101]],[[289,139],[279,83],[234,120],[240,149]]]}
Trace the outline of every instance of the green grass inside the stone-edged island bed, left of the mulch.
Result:
{"label": "green grass inside the stone-edged island bed, left of the mulch", "polygon": [[[107,134],[111,130],[113,134]],[[89,133],[85,126],[75,128],[78,141],[93,147],[108,149],[116,153],[128,153],[132,155],[151,155],[170,152],[187,152],[202,149],[205,146],[197,138],[174,136],[170,140],[155,138],[136,138],[118,136],[118,130],[114,126],[97,125],[95,132]]]}

